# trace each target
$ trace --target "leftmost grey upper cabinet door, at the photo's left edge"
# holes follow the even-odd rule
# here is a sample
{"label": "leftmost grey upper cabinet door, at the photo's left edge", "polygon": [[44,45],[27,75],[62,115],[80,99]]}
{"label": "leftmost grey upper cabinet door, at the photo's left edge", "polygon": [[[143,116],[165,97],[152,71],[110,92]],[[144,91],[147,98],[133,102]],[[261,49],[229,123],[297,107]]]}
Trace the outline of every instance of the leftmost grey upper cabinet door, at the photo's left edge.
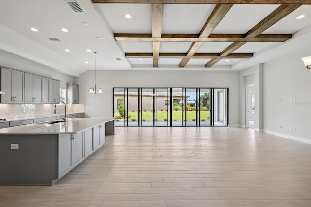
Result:
{"label": "leftmost grey upper cabinet door, at the photo's left edge", "polygon": [[5,92],[5,94],[1,95],[1,103],[13,102],[13,76],[13,70],[1,69],[1,90]]}

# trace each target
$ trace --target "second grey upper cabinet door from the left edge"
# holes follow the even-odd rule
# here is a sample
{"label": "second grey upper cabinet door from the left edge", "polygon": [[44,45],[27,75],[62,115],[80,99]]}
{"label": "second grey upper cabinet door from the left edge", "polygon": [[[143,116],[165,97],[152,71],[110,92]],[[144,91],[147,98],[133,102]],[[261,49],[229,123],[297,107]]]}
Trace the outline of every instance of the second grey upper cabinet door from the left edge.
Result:
{"label": "second grey upper cabinet door from the left edge", "polygon": [[24,103],[24,73],[15,70],[13,78],[14,103]]}

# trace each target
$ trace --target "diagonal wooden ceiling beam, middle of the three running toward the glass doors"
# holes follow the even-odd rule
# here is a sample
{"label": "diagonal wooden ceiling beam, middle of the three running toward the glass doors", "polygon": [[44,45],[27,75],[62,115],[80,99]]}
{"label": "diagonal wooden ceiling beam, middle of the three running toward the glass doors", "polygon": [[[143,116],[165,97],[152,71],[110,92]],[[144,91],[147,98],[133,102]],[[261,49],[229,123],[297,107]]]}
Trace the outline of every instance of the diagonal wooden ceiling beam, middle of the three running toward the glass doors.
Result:
{"label": "diagonal wooden ceiling beam, middle of the three running toward the glass doors", "polygon": [[[225,17],[232,6],[233,4],[217,4],[202,27],[199,38],[207,38],[213,32],[218,23]],[[203,42],[194,42],[187,52],[187,57],[193,56],[202,44]],[[184,58],[179,63],[179,67],[185,67],[189,60],[189,58]]]}

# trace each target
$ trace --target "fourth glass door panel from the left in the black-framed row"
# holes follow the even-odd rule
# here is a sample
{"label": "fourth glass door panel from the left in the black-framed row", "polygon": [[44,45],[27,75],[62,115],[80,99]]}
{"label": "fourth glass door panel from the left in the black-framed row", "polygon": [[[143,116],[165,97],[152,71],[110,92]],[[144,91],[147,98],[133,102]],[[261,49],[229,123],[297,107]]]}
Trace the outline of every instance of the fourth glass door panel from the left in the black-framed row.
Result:
{"label": "fourth glass door panel from the left in the black-framed row", "polygon": [[170,94],[169,88],[156,88],[155,120],[156,126],[169,126]]}

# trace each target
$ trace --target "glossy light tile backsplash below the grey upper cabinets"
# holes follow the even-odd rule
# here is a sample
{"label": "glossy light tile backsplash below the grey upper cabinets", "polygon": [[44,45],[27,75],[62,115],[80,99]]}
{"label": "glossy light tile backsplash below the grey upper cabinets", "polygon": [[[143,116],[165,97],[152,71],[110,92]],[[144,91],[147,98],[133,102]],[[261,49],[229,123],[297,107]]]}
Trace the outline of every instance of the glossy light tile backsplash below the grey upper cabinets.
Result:
{"label": "glossy light tile backsplash below the grey upper cabinets", "polygon": [[[62,108],[63,106],[57,106]],[[66,104],[67,113],[84,112],[84,104]],[[64,113],[57,111],[57,114]],[[54,104],[0,104],[0,119],[54,114]]]}

